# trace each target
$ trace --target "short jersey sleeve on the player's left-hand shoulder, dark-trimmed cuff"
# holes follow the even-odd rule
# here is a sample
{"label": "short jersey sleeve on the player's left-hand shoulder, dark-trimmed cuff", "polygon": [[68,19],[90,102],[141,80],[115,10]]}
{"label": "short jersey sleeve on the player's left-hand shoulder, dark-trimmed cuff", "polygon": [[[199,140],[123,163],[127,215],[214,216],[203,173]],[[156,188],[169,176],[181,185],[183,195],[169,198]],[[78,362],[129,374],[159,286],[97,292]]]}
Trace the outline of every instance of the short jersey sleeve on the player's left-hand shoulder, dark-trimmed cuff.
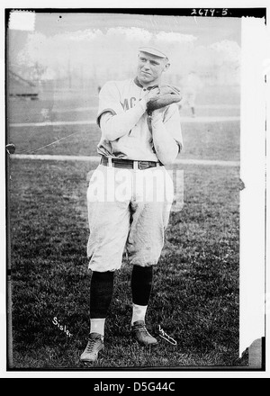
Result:
{"label": "short jersey sleeve on the player's left-hand shoulder, dark-trimmed cuff", "polygon": [[113,81],[104,84],[99,93],[99,105],[96,118],[98,126],[100,126],[100,118],[104,112],[112,112],[112,115],[124,112],[121,105],[120,91]]}

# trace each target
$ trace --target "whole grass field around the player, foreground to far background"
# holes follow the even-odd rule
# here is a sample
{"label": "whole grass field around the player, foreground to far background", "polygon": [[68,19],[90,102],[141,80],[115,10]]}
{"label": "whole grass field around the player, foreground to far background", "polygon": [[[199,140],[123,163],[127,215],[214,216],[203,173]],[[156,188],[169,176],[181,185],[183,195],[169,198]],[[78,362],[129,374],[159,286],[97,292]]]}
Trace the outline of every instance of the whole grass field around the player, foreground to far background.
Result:
{"label": "whole grass field around the player, foreground to far background", "polygon": [[[40,121],[45,112],[38,107],[48,104],[20,102],[11,103],[12,122]],[[54,106],[64,109],[65,103]],[[231,103],[237,103],[235,96]],[[81,104],[76,102],[77,107]],[[94,99],[85,106],[89,104],[94,105]],[[68,106],[71,110],[72,103]],[[67,113],[74,119],[92,119],[91,112],[86,117],[84,112]],[[55,112],[50,119],[67,121],[67,113]],[[79,128],[74,139],[43,148],[39,154],[96,155],[98,129]],[[19,152],[71,132],[65,127],[12,128],[10,138]],[[181,157],[239,159],[237,121],[184,124],[183,133]],[[181,166],[184,208],[171,213],[147,316],[150,331],[160,341],[158,347],[150,351],[130,338],[131,268],[123,260],[106,321],[105,352],[91,367],[79,365],[89,329],[91,276],[85,255],[86,175],[94,167],[76,161],[11,160],[14,367],[152,370],[247,365],[245,359],[238,359],[237,166]],[[53,323],[54,318],[72,337]],[[176,346],[158,336],[158,325]]]}

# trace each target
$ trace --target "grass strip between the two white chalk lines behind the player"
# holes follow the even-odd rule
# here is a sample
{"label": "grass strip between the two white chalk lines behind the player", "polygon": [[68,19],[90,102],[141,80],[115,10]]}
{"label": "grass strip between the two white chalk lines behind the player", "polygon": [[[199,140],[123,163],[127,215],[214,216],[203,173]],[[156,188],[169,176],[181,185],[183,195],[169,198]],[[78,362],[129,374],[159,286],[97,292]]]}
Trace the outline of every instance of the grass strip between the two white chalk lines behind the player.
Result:
{"label": "grass strip between the two white chalk lines behind the player", "polygon": [[[182,126],[184,151],[181,158],[239,160],[238,121],[186,123]],[[58,141],[53,146],[50,142]],[[17,154],[96,156],[100,132],[96,125],[64,125],[51,127],[22,127],[11,129],[11,141]],[[40,149],[41,148],[41,149]]]}

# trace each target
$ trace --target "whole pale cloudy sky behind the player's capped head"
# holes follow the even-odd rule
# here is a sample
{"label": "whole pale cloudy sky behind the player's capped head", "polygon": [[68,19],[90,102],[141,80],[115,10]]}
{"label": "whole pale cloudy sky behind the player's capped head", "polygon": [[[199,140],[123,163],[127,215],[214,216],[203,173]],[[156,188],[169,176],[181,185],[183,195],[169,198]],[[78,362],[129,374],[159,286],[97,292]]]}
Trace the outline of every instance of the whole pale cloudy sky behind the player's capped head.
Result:
{"label": "whole pale cloudy sky behind the player's capped head", "polygon": [[102,76],[108,69],[133,73],[139,46],[151,44],[168,52],[171,73],[186,72],[238,62],[240,27],[239,18],[37,13],[34,31],[10,30],[9,56],[14,65],[39,62],[62,75],[71,67]]}

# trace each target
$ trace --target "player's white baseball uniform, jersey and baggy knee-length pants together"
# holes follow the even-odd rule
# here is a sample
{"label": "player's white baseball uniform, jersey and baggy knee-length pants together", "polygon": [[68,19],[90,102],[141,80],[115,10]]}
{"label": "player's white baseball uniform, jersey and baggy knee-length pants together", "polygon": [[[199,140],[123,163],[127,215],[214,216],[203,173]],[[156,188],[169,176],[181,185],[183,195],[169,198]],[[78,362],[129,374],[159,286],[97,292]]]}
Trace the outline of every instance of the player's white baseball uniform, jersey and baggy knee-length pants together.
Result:
{"label": "player's white baseball uniform, jersey and baggy knee-length pants together", "polygon": [[[141,104],[144,101],[140,103],[146,93],[147,88],[139,84],[138,78],[103,85],[97,115],[102,130],[99,154],[158,163],[146,105]],[[114,115],[122,115],[119,123],[113,123]],[[182,148],[180,116],[175,103],[164,108],[161,127]],[[117,139],[105,138],[127,128]],[[162,199],[157,197],[157,190],[162,191]],[[125,247],[131,264],[157,264],[173,198],[174,186],[165,166],[139,170],[99,165],[87,190],[89,268],[99,272],[120,269]]]}

